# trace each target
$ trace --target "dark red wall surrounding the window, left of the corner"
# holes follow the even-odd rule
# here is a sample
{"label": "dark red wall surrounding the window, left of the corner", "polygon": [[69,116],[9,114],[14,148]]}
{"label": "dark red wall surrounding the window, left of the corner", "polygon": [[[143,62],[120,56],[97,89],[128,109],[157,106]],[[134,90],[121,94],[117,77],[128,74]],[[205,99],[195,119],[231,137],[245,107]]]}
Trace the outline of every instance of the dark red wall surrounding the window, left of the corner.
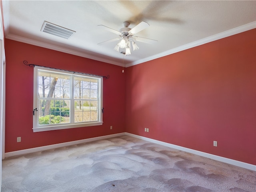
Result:
{"label": "dark red wall surrounding the window, left of the corner", "polygon": [[[81,140],[125,131],[125,74],[122,67],[5,39],[5,152]],[[103,125],[33,132],[33,68],[23,61],[52,68],[110,75],[103,82]],[[110,126],[113,129],[110,130]],[[17,137],[21,142],[17,143]]]}

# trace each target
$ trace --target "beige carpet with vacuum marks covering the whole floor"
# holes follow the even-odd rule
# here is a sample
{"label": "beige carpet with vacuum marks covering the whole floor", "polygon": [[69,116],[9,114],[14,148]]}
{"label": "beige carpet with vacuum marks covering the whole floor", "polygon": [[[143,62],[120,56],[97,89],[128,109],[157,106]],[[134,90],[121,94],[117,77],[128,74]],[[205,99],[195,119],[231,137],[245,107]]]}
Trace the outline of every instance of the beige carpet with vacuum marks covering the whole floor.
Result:
{"label": "beige carpet with vacuum marks covering the whole floor", "polygon": [[255,192],[256,172],[130,136],[6,158],[2,192]]}

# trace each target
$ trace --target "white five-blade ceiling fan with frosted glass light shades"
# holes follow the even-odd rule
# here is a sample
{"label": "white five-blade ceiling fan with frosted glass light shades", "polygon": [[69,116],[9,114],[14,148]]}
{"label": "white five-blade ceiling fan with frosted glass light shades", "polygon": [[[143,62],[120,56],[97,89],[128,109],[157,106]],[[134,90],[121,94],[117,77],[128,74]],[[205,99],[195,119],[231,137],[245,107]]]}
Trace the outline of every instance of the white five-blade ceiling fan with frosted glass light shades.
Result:
{"label": "white five-blade ceiling fan with frosted glass light shades", "polygon": [[126,49],[125,53],[124,52],[121,52],[121,53],[123,53],[125,55],[130,55],[131,54],[131,51],[130,51],[131,43],[132,43],[132,48],[134,51],[139,49],[139,47],[137,46],[137,44],[134,41],[139,41],[139,42],[149,43],[149,44],[155,44],[157,42],[157,40],[134,36],[134,34],[144,30],[145,28],[147,28],[149,26],[149,24],[147,22],[142,21],[132,29],[129,28],[130,23],[128,21],[123,22],[123,25],[124,25],[124,27],[121,28],[119,31],[114,30],[114,29],[109,28],[104,25],[98,25],[98,27],[104,28],[104,29],[106,29],[110,32],[113,32],[115,34],[118,34],[120,36],[119,38],[114,38],[114,39],[110,39],[110,40],[107,40],[104,42],[100,42],[100,43],[98,43],[98,45],[102,45],[105,43],[110,43],[110,42],[120,40],[118,42],[118,44],[116,44],[114,50],[118,52],[119,48],[125,48]]}

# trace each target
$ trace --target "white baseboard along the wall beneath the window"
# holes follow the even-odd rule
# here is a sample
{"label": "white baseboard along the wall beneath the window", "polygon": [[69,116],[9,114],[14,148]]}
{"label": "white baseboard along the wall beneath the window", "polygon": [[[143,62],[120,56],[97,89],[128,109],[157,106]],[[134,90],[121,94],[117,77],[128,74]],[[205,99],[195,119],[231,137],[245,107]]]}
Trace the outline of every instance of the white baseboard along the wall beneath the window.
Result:
{"label": "white baseboard along the wall beneath the window", "polygon": [[70,142],[65,142],[65,143],[58,143],[58,144],[54,144],[54,145],[47,145],[47,146],[42,146],[42,147],[24,149],[24,150],[19,150],[19,151],[13,151],[13,152],[5,153],[4,157],[6,158],[6,157],[11,157],[11,156],[24,155],[24,154],[28,154],[28,153],[34,153],[34,152],[39,152],[39,151],[44,151],[44,150],[49,150],[49,149],[66,147],[66,146],[70,146],[70,145],[77,145],[77,144],[92,142],[92,141],[101,140],[101,139],[108,139],[108,138],[112,138],[112,137],[118,137],[118,136],[122,136],[122,135],[125,135],[125,133],[118,133],[118,134],[112,134],[112,135],[106,135],[106,136],[100,136],[100,137],[93,137],[93,138],[70,141]]}

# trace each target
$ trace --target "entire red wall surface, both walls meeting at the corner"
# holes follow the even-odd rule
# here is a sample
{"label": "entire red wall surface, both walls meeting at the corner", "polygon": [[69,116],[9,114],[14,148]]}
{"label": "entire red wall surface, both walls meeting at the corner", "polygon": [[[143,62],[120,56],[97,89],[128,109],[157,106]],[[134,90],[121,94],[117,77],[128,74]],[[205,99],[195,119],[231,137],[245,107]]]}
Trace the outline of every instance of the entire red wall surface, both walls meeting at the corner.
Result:
{"label": "entire red wall surface, both walls meeting at the corner", "polygon": [[[5,51],[6,152],[126,131],[256,165],[256,29],[129,67],[124,74],[120,66],[8,39]],[[103,125],[34,133],[33,68],[23,60],[109,74]]]}

